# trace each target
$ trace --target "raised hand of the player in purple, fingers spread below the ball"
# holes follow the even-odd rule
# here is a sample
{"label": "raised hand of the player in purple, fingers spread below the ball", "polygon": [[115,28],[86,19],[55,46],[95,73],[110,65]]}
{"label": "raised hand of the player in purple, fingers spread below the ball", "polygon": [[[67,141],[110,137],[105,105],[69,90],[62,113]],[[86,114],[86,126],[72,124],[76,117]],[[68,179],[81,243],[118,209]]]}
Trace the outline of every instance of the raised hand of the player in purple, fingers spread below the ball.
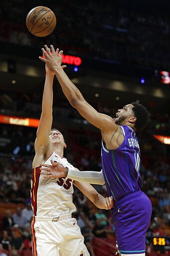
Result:
{"label": "raised hand of the player in purple, fingers spread below the ball", "polygon": [[43,62],[48,63],[48,66],[52,69],[58,69],[58,68],[64,68],[66,65],[61,65],[62,63],[62,54],[63,50],[60,50],[57,48],[56,51],[53,47],[53,45],[50,45],[50,48],[48,48],[47,45],[44,45],[44,48],[41,48],[43,57],[39,56],[39,59],[41,59]]}

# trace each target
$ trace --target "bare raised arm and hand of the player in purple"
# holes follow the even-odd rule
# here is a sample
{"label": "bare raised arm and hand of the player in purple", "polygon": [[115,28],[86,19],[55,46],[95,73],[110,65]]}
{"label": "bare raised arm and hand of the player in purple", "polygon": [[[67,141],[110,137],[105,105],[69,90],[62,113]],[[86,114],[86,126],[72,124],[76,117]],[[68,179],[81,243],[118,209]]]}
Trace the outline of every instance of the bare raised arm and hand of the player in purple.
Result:
{"label": "bare raised arm and hand of the player in purple", "polygon": [[64,95],[67,97],[70,104],[74,108],[76,108],[85,119],[87,119],[90,123],[101,129],[102,131],[107,132],[109,130],[116,130],[118,128],[118,125],[115,124],[113,118],[106,114],[99,113],[97,110],[95,110],[84,99],[78,88],[68,78],[67,74],[61,67],[63,51],[59,51],[58,48],[55,51],[52,45],[51,49],[45,45],[45,49],[42,48],[42,52],[44,54],[44,58],[39,58],[42,61],[48,63],[50,68],[53,69],[64,92]]}

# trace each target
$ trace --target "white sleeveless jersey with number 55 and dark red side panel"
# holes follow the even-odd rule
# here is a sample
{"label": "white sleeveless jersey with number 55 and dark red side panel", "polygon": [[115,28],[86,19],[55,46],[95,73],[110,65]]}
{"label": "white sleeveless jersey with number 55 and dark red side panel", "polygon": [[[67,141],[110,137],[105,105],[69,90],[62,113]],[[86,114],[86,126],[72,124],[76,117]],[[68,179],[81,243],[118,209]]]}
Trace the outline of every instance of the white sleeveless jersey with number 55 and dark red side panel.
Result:
{"label": "white sleeveless jersey with number 55 and dark red side panel", "polygon": [[[45,161],[51,164],[50,160],[60,162],[64,167],[71,167],[66,158],[61,158],[53,152]],[[32,169],[31,178],[31,204],[35,216],[59,216],[70,214],[76,211],[72,201],[73,183],[70,178],[44,178],[40,174],[40,166]]]}

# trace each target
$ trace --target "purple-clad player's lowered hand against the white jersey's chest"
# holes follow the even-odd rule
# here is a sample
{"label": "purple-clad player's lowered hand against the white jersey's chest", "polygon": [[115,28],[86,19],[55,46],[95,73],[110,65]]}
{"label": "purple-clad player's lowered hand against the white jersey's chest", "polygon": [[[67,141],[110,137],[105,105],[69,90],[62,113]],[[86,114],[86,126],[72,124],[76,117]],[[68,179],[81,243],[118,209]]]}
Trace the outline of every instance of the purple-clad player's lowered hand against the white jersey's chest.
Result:
{"label": "purple-clad player's lowered hand against the white jersey's chest", "polygon": [[44,178],[59,178],[67,176],[67,167],[64,167],[60,162],[54,162],[51,160],[51,164],[40,164],[40,174],[44,175]]}

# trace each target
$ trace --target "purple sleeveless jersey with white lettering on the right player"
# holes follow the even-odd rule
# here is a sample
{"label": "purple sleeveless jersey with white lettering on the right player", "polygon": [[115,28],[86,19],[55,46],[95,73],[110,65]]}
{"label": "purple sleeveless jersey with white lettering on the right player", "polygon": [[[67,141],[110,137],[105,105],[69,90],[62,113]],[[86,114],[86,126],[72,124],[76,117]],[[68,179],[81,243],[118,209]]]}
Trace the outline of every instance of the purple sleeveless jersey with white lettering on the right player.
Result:
{"label": "purple sleeveless jersey with white lettering on the right player", "polygon": [[140,169],[140,147],[135,131],[127,125],[121,126],[124,141],[114,150],[105,147],[102,141],[102,170],[108,195],[119,200],[142,187]]}

